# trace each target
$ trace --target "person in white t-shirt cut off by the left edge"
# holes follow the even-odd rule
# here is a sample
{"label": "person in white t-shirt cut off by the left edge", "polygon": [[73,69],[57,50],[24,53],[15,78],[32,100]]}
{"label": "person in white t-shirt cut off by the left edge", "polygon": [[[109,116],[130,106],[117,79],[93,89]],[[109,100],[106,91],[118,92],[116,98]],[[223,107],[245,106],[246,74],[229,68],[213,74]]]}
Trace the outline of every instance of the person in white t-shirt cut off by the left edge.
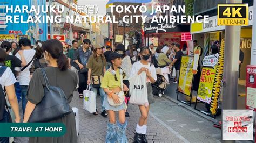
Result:
{"label": "person in white t-shirt cut off by the left edge", "polygon": [[[2,48],[0,48],[0,84],[1,84],[1,94],[4,94],[3,89],[5,88],[6,95],[8,97],[8,101],[11,104],[11,108],[14,111],[15,114],[15,122],[19,123],[21,120],[21,117],[19,117],[19,105],[18,105],[18,99],[15,95],[15,89],[14,89],[14,83],[16,82],[16,79],[14,77],[14,74],[12,73],[11,69],[9,67],[4,66],[6,58],[6,51],[4,51]],[[3,97],[4,98],[4,97]],[[3,99],[1,98],[1,100]],[[1,106],[1,109],[5,108]],[[0,123],[8,123],[10,121],[9,113],[3,109],[1,111],[0,115]],[[0,142],[9,142],[9,137],[0,137]]]}

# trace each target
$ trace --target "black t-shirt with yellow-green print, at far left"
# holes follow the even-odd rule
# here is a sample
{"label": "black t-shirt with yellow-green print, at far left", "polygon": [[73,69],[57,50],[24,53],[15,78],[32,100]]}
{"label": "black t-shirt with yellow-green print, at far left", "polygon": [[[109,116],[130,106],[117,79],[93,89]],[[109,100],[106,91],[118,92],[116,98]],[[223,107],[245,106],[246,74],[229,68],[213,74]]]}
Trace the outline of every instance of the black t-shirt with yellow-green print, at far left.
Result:
{"label": "black t-shirt with yellow-green print, at far left", "polygon": [[14,71],[14,68],[15,67],[21,67],[21,63],[22,61],[19,60],[16,56],[14,55],[7,55],[6,56],[6,59],[5,59],[5,66],[6,67],[9,67],[12,71],[12,73],[14,73],[14,76],[16,77],[15,75],[15,71]]}

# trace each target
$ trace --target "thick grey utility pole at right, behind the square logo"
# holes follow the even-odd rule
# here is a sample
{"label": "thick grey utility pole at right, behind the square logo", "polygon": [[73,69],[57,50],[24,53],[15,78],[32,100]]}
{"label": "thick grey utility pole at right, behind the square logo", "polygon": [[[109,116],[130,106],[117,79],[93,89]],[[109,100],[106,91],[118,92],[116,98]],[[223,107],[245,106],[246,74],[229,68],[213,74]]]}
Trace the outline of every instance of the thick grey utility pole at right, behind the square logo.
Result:
{"label": "thick grey utility pole at right, behind the square logo", "polygon": [[[242,3],[242,0],[227,0],[226,2]],[[224,54],[223,103],[222,103],[223,110],[237,109],[238,67],[239,67],[238,57],[239,57],[239,48],[240,48],[240,33],[241,33],[241,26],[225,27],[225,50],[224,50],[225,54]],[[223,124],[221,128],[223,128]],[[222,130],[221,130],[221,137],[223,137]],[[235,142],[235,141],[223,140],[222,142]]]}

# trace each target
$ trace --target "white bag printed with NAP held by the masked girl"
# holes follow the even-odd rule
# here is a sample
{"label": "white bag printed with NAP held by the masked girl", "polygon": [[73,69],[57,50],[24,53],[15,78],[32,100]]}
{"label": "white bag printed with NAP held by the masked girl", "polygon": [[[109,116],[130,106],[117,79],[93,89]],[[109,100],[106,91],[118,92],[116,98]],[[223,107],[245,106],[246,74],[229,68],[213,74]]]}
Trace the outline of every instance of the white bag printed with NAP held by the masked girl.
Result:
{"label": "white bag printed with NAP held by the masked girl", "polygon": [[143,71],[140,75],[136,74],[129,78],[130,82],[130,100],[129,102],[137,105],[145,105],[147,101],[147,83],[146,72]]}

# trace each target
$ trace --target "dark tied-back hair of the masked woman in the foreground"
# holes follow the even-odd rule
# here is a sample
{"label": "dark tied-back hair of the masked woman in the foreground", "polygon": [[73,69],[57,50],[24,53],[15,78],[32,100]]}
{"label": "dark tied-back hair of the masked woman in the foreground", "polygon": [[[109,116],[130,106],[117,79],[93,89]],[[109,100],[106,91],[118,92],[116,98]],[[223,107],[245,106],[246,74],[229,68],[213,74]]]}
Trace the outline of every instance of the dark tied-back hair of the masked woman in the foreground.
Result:
{"label": "dark tied-back hair of the masked woman in the foreground", "polygon": [[59,40],[51,39],[44,42],[43,51],[47,51],[53,59],[57,59],[58,68],[62,71],[68,69],[69,62],[63,54],[63,46]]}

